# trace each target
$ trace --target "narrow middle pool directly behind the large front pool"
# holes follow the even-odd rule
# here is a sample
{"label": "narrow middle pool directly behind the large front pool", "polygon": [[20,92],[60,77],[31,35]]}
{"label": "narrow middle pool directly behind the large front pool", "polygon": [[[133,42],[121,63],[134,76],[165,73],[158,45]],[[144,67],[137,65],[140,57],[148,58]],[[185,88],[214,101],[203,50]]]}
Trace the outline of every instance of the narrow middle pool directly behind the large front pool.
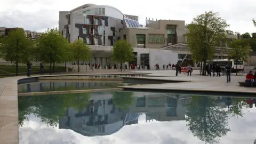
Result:
{"label": "narrow middle pool directly behind the large front pool", "polygon": [[137,85],[125,81],[39,81],[18,85],[18,93],[47,92],[47,91],[71,91],[91,89],[113,89],[118,86]]}

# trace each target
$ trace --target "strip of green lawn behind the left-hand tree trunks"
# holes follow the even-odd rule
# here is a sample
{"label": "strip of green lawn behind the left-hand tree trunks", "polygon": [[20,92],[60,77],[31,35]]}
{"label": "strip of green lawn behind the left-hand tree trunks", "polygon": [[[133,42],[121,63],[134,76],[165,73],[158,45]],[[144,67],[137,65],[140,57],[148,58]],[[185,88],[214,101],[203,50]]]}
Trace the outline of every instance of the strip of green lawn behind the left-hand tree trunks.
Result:
{"label": "strip of green lawn behind the left-hand tree trunks", "polygon": [[[59,72],[65,72],[66,69],[65,67],[57,67],[55,66],[55,73],[59,73]],[[71,71],[71,69],[69,68],[69,71]],[[43,69],[44,73],[49,73],[50,72],[50,67],[49,66],[45,66]],[[16,67],[15,66],[0,66],[0,75],[15,75],[16,73]],[[26,75],[27,74],[27,67],[26,66],[19,66],[18,67],[18,73],[20,75]],[[39,67],[31,67],[31,74],[39,74]]]}

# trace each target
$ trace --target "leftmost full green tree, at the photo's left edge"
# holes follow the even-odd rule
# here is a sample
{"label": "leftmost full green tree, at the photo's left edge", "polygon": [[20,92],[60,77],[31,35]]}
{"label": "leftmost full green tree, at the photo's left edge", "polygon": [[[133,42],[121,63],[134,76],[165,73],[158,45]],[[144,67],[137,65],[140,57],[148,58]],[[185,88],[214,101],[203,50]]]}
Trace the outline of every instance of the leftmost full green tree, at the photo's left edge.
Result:
{"label": "leftmost full green tree, at the photo's left edge", "polygon": [[9,35],[3,37],[1,43],[1,58],[15,63],[16,75],[18,75],[19,63],[27,62],[28,55],[30,55],[31,42],[26,38],[24,30],[17,28],[12,30]]}

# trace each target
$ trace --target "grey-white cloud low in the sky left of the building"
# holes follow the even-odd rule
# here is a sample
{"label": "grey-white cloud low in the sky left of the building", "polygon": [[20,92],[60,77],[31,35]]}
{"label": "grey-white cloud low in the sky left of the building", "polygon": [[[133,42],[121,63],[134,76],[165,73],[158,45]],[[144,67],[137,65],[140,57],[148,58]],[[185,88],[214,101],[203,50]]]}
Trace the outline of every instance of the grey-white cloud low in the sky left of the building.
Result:
{"label": "grey-white cloud low in the sky left of the building", "polygon": [[19,10],[4,11],[0,15],[0,26],[22,27],[26,30],[38,31],[58,25],[58,11],[40,9],[29,13]]}

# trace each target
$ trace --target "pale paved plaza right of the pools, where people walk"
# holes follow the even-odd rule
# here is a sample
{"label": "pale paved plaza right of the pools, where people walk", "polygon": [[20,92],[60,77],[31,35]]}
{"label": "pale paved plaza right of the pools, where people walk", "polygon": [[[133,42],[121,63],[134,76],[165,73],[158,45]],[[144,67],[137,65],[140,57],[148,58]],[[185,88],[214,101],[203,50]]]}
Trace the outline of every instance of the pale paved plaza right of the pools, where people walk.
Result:
{"label": "pale paved plaza right of the pools, where people walk", "polygon": [[[145,71],[138,71],[139,73],[145,73]],[[148,90],[183,90],[183,91],[219,91],[219,92],[246,92],[256,93],[254,87],[241,87],[238,81],[244,81],[245,75],[236,76],[231,75],[231,82],[227,83],[226,76],[210,77],[199,75],[199,70],[195,70],[192,76],[187,74],[179,74],[175,76],[174,70],[159,70],[159,71],[147,71],[151,73],[149,76],[151,79],[187,79],[191,82],[188,83],[168,83],[168,84],[151,84],[151,85],[132,85],[132,86],[119,86],[124,89],[148,89]],[[155,77],[154,77],[155,76]],[[162,77],[159,77],[162,76]],[[165,77],[163,77],[165,76]]]}

